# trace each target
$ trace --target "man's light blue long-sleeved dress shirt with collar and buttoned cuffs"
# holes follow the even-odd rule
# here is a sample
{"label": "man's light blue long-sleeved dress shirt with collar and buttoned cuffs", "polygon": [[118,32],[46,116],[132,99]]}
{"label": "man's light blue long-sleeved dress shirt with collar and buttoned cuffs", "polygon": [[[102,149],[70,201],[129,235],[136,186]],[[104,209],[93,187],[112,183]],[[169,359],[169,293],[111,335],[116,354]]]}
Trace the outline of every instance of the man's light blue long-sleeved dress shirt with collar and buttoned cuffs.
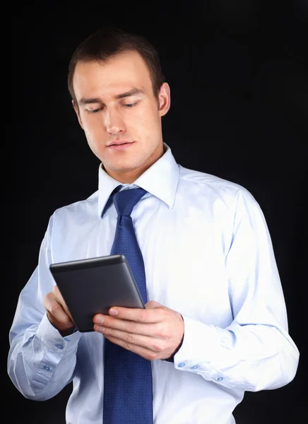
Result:
{"label": "man's light blue long-sleeved dress shirt with collar and buttoned cuffs", "polygon": [[[244,391],[292,381],[299,351],[259,204],[239,184],[178,165],[164,147],[134,182],[148,193],[131,214],[148,300],[184,318],[174,363],[152,361],[154,423],[231,424]],[[50,324],[49,264],[110,253],[117,212],[105,205],[118,185],[100,166],[97,192],[53,213],[9,334],[8,374],[25,397],[52,398],[73,380],[68,424],[102,424],[104,337],[63,338]]]}

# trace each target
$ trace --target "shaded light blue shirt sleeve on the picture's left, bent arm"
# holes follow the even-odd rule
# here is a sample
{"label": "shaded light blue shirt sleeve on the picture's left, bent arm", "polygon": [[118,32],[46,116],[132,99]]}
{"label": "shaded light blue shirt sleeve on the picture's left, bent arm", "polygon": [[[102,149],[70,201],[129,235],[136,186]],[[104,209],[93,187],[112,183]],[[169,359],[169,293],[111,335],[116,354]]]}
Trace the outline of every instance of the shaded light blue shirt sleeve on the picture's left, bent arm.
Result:
{"label": "shaded light blue shirt sleeve on the picture's left, bent arm", "polygon": [[28,399],[46,400],[71,382],[81,333],[62,337],[47,318],[44,298],[54,287],[51,217],[42,240],[37,268],[21,290],[9,332],[8,375]]}

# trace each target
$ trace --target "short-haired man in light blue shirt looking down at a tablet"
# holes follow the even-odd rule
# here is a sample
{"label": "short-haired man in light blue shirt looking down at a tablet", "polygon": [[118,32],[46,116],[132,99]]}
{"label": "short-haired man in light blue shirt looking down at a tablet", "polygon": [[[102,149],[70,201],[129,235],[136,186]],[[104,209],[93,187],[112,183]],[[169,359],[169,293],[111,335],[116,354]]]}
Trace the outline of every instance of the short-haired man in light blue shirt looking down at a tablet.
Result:
{"label": "short-haired man in light blue shirt looking down at a tablet", "polygon": [[[49,220],[11,326],[8,374],[25,397],[40,401],[73,381],[67,423],[119,424],[106,418],[116,394],[106,402],[112,382],[105,379],[107,346],[118,346],[150,364],[153,396],[149,420],[138,398],[135,418],[121,422],[235,423],[244,391],[283,387],[299,360],[259,204],[238,184],[176,163],[162,141],[170,87],[142,37],[121,30],[88,37],[71,58],[69,91],[101,161],[99,187]],[[49,265],[110,254],[117,210],[109,199],[136,187],[146,192],[131,212],[146,310],[114,305],[81,334]],[[144,379],[134,375],[138,390]]]}

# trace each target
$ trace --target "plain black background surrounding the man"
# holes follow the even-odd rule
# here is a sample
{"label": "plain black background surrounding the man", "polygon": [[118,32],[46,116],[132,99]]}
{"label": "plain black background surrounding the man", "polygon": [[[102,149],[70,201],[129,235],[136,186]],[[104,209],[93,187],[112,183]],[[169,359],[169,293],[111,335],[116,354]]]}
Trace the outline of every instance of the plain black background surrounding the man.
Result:
{"label": "plain black background surrounding the man", "polygon": [[[3,167],[9,161],[4,247],[11,266],[3,280],[3,333],[8,335],[18,294],[37,264],[49,216],[97,189],[99,162],[71,107],[67,68],[83,38],[100,25],[118,25],[146,36],[160,52],[172,96],[163,135],[177,162],[249,189],[271,232],[300,364],[287,386],[247,392],[235,409],[237,424],[302,423],[308,1],[44,2],[11,10],[11,122],[2,156]],[[13,402],[6,423],[65,423],[71,386],[37,402],[23,398],[6,370],[1,381]]]}

